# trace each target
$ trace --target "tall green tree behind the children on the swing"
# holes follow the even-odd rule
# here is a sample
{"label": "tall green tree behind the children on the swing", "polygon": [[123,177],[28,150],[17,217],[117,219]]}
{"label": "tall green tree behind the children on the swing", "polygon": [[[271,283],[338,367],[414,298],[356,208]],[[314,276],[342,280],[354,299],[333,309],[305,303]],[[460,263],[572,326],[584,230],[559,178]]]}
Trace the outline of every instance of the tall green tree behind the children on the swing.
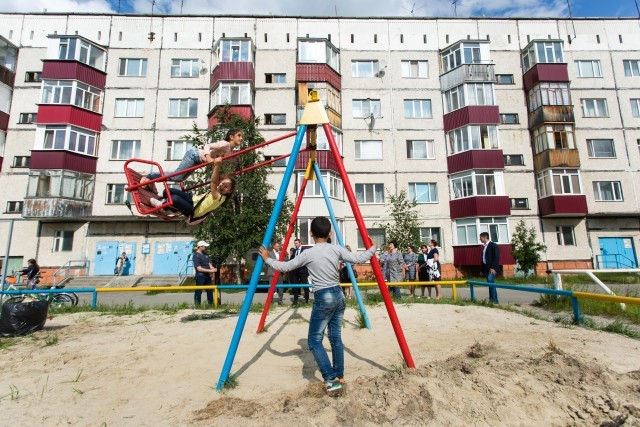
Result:
{"label": "tall green tree behind the children on the swing", "polygon": [[[217,125],[206,132],[194,125],[193,133],[186,135],[185,139],[193,141],[194,147],[202,147],[207,142],[224,139],[229,129],[240,129],[244,135],[241,149],[264,142],[257,129],[258,119],[247,120],[233,114],[228,106],[218,110],[215,115],[219,120]],[[263,160],[261,153],[252,150],[223,162],[221,173],[233,173]],[[210,255],[226,260],[223,262],[235,263],[238,278],[240,260],[249,250],[260,246],[273,211],[275,200],[268,197],[269,191],[274,188],[267,182],[270,172],[271,165],[267,165],[237,176],[238,186],[233,195],[194,230],[195,240],[202,239],[211,245]],[[211,168],[199,169],[191,175],[186,185],[207,182],[210,177]],[[208,188],[204,186],[196,192],[206,192]],[[285,200],[274,234],[275,239],[281,239],[286,233],[292,210],[292,203]]]}

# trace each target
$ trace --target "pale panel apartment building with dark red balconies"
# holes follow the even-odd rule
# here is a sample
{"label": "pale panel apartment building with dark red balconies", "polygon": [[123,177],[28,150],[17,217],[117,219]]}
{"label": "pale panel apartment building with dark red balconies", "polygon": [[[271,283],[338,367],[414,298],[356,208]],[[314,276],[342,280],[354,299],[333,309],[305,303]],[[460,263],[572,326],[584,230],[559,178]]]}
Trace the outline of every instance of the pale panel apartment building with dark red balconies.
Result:
{"label": "pale panel apartment building with dark red balconies", "polygon": [[[259,117],[265,139],[289,133],[311,89],[379,245],[389,194],[406,190],[447,276],[477,266],[482,231],[511,272],[520,219],[548,247],[543,270],[637,267],[637,19],[2,14],[0,22],[0,246],[13,220],[9,269],[31,257],[54,269],[89,260],[91,274],[107,275],[125,251],[130,274],[177,274],[189,230],[132,216],[124,161],[177,166],[193,124],[215,125],[213,112],[227,103]],[[363,249],[321,133],[318,143],[345,241]],[[306,161],[297,161],[291,199]],[[273,168],[276,187],[284,165]],[[303,240],[323,213],[310,183]]]}

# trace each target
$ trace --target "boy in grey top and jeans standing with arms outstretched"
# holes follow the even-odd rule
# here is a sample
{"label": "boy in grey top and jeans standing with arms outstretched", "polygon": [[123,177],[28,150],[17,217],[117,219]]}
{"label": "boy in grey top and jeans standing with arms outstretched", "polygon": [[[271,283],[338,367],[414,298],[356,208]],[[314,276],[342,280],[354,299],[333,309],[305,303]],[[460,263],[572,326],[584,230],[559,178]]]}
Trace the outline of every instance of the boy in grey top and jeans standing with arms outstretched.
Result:
{"label": "boy in grey top and jeans standing with arms outstretched", "polygon": [[[293,260],[280,262],[269,257],[266,248],[260,248],[260,256],[269,267],[282,272],[307,266],[313,282],[313,309],[309,321],[309,350],[318,364],[324,385],[328,393],[342,389],[344,383],[344,346],[342,344],[342,318],[346,307],[344,294],[340,289],[340,262],[360,264],[368,261],[376,253],[375,246],[365,252],[352,253],[345,248],[328,243],[331,235],[331,222],[325,217],[316,217],[311,221],[309,233],[315,245]],[[324,333],[329,329],[329,342],[333,364],[322,345]]]}

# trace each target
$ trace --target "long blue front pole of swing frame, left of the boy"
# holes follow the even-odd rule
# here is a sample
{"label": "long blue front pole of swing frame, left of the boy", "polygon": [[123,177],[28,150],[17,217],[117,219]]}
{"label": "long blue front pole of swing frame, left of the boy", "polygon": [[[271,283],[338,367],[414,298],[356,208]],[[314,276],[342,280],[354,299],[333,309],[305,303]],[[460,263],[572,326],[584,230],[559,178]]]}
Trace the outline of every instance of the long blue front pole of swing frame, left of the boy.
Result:
{"label": "long blue front pole of swing frame, left of the boy", "polygon": [[[280,189],[278,190],[278,197],[276,198],[276,201],[273,205],[273,212],[271,212],[269,225],[267,225],[267,230],[264,234],[264,239],[262,240],[262,246],[264,247],[269,246],[269,243],[271,243],[271,239],[273,239],[273,233],[278,223],[278,217],[280,216],[280,211],[282,210],[284,199],[287,196],[287,188],[289,187],[289,182],[291,182],[293,169],[296,165],[298,152],[300,151],[300,147],[302,146],[302,141],[304,139],[306,130],[306,125],[300,125],[300,127],[298,128],[296,140],[293,143],[293,147],[291,148],[291,157],[289,157],[289,161],[287,162],[287,168],[285,169],[284,176],[282,177],[282,183],[280,184]],[[253,296],[256,293],[258,279],[260,278],[260,270],[262,270],[263,264],[264,260],[262,259],[262,257],[258,257],[258,259],[256,260],[256,265],[253,269],[253,273],[251,274],[251,281],[249,282],[247,295],[245,296],[244,302],[242,303],[242,308],[240,309],[240,315],[238,316],[236,329],[233,331],[233,336],[231,337],[229,351],[227,352],[227,357],[224,360],[224,365],[222,365],[222,372],[220,372],[220,378],[218,379],[218,384],[216,385],[216,391],[220,391],[220,389],[222,389],[222,387],[224,386],[225,381],[229,379],[231,366],[233,365],[233,359],[235,359],[236,357],[238,344],[240,344],[240,338],[242,337],[242,331],[244,330],[244,326],[247,323],[247,316],[249,315],[249,309],[251,308],[251,301],[253,301]]]}

